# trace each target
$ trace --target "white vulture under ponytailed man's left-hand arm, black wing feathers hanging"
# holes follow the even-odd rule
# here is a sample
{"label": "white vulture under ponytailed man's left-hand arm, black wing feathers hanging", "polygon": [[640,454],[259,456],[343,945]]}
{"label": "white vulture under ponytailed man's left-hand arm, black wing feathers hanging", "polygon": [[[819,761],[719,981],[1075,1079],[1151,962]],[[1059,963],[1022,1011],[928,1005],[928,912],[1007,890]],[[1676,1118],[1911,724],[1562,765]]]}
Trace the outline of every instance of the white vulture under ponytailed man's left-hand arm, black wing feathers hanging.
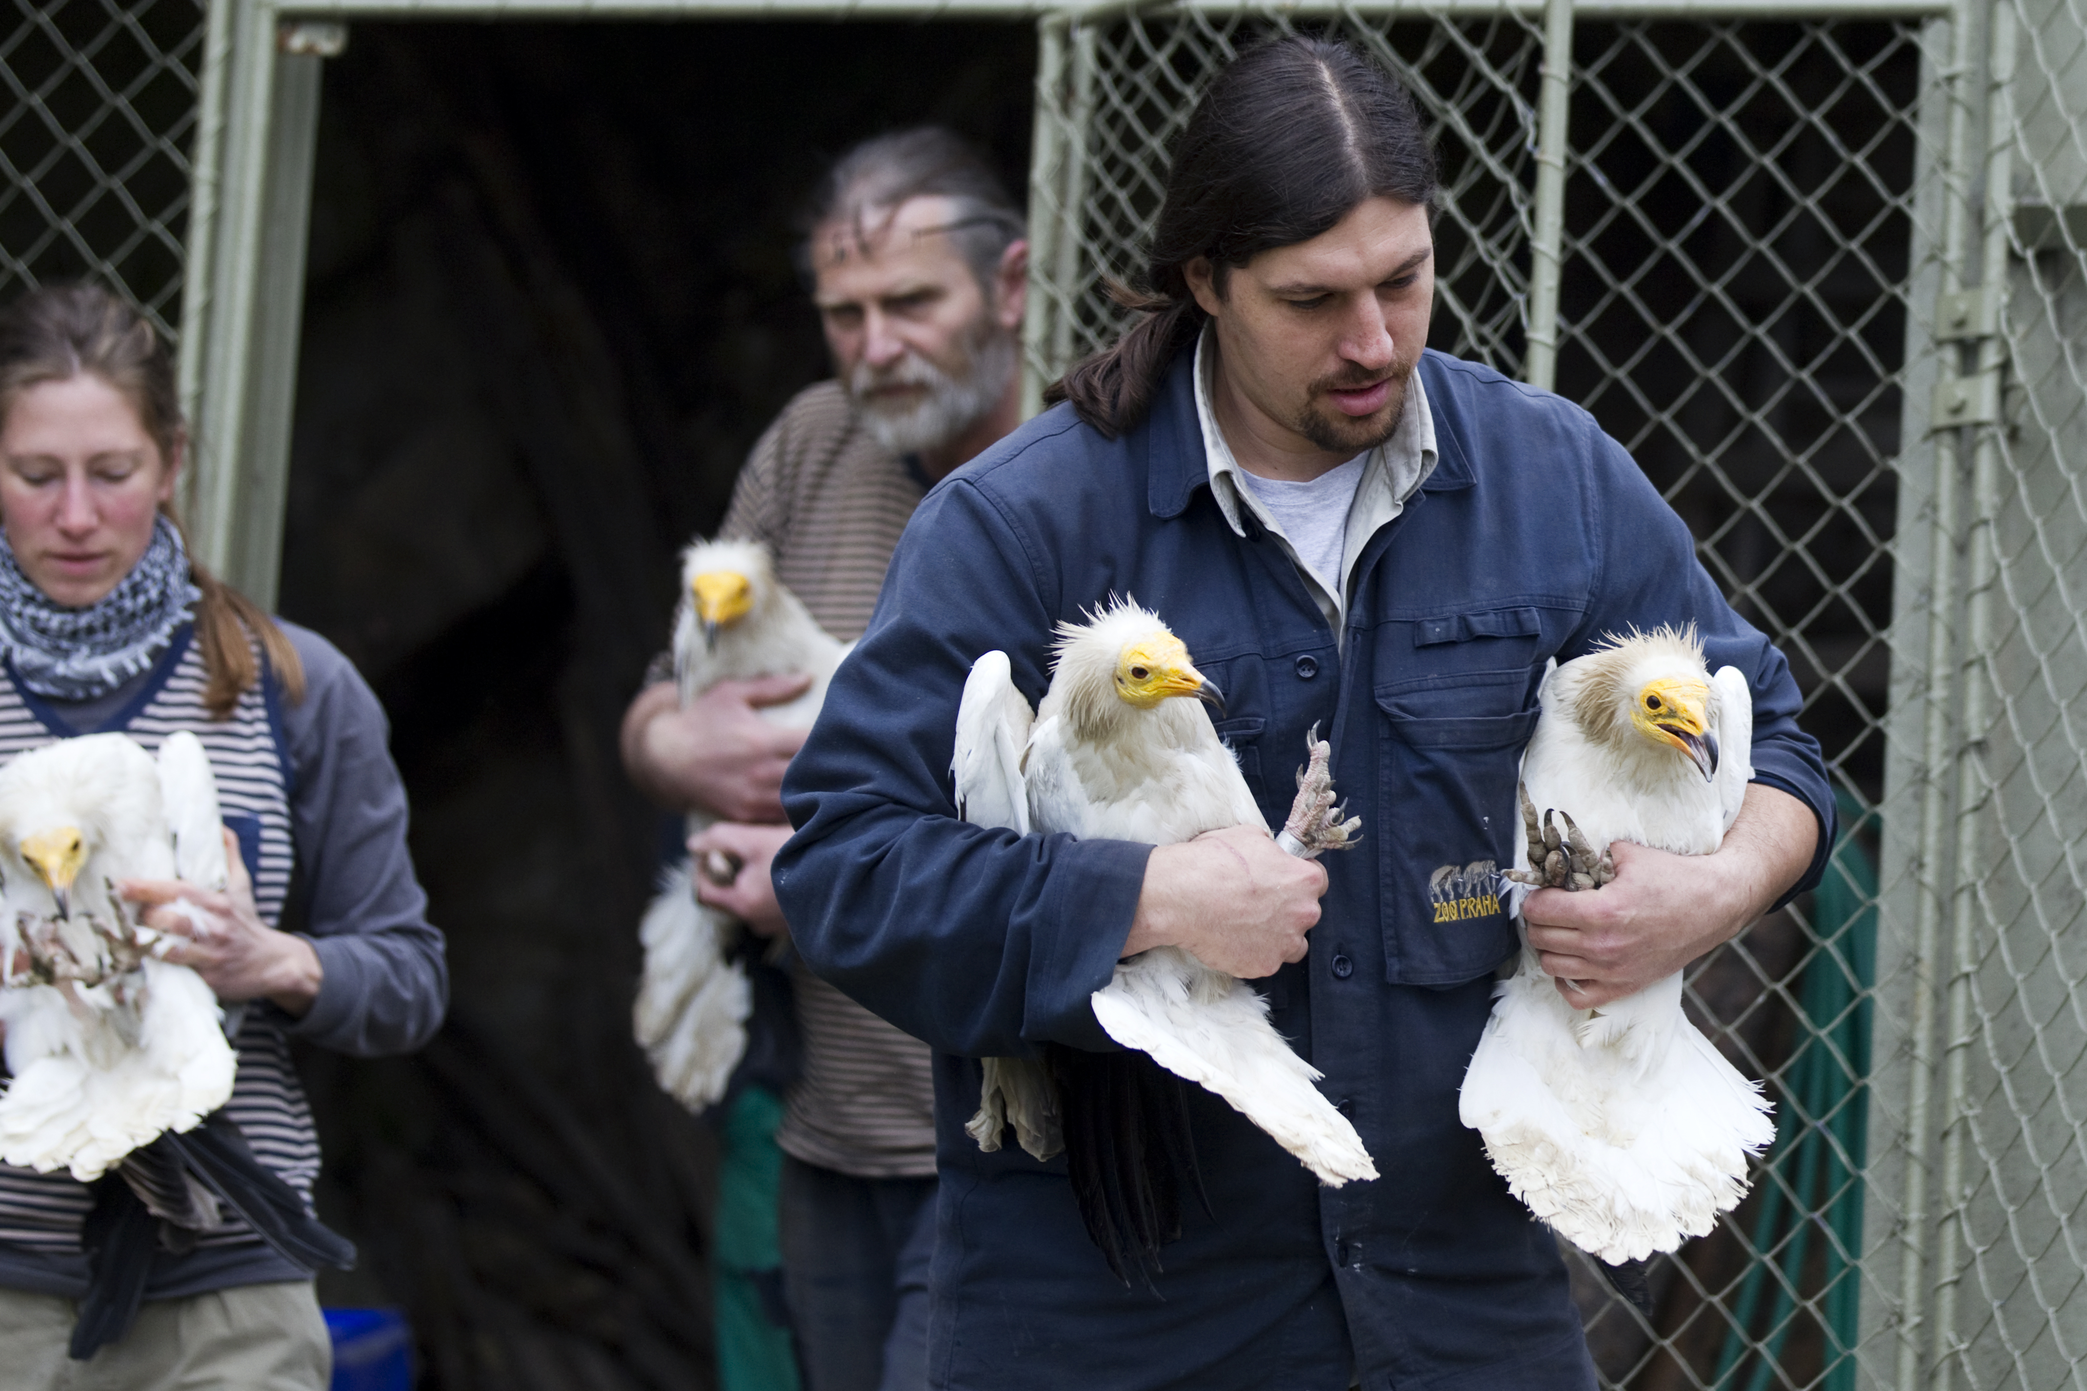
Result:
{"label": "white vulture under ponytailed man's left-hand arm, black wing feathers hanging", "polygon": [[[1267,828],[1204,709],[1219,699],[1167,624],[1131,601],[1087,624],[1060,624],[1052,682],[1033,719],[1006,653],[985,653],[958,707],[950,767],[958,809],[966,822],[1023,834],[1148,845],[1227,826]],[[1317,738],[1309,745],[1311,767],[1298,776],[1296,807],[1279,836],[1294,855],[1342,849],[1359,826],[1334,807],[1327,747]],[[1267,1001],[1246,982],[1188,951],[1156,947],[1121,961],[1092,999],[1110,1039],[1223,1097],[1321,1182],[1377,1176],[1354,1126],[1313,1084],[1319,1072],[1284,1043]],[[1158,1245],[1179,1224],[1175,1172],[1194,1176],[1192,1160],[1156,1153],[1192,1153],[1185,1112],[1177,1091],[1169,1095],[1150,1066],[1133,1061],[1137,1053],[1052,1047],[1041,1064],[989,1057],[979,1114],[966,1126],[987,1151],[1000,1147],[1008,1124],[1037,1160],[1069,1149],[1081,1216],[1119,1276],[1125,1255],[1156,1264]],[[1121,1061],[1140,1070],[1125,1072]],[[1152,1132],[1085,1134],[1108,1122],[1079,1116],[1083,1107],[1125,1109],[1098,1091],[1129,1095]],[[1073,1114],[1062,1114],[1060,1099]]]}

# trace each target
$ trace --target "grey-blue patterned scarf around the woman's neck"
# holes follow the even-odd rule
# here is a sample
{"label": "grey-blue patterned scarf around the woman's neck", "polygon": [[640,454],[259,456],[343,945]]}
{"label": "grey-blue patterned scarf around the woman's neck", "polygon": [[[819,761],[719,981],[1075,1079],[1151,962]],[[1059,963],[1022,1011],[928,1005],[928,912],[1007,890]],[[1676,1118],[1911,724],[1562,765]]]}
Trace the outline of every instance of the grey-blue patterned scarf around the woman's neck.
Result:
{"label": "grey-blue patterned scarf around the woman's neck", "polygon": [[15,676],[40,697],[92,701],[148,669],[173,630],[196,611],[202,590],[188,578],[182,534],[165,517],[152,544],[100,601],[65,609],[21,574],[0,536],[0,649]]}

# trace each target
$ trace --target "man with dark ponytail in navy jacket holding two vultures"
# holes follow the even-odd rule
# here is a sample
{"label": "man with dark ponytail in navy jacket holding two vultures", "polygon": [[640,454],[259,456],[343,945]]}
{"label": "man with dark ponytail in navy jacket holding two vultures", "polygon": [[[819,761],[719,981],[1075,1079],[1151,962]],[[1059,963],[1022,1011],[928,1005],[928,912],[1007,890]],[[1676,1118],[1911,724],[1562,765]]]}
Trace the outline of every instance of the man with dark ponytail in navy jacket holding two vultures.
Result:
{"label": "man with dark ponytail in navy jacket holding two vultures", "polygon": [[[1279,38],[1221,73],[1173,150],[1142,317],[927,496],[789,767],[774,882],[799,951],[937,1049],[937,1387],[1592,1387],[1555,1239],[1457,1122],[1515,928],[1494,895],[1436,903],[1511,859],[1549,659],[1695,621],[1753,680],[1757,784],[1718,855],[1620,851],[1601,895],[1530,899],[1576,1005],[1820,872],[1832,799],[1797,686],[1680,519],[1584,411],[1425,350],[1434,198],[1411,98],[1352,48]],[[1319,870],[1248,828],[1154,849],[958,820],[970,663],[1006,651],[1035,701],[1054,628],[1112,594],[1223,688],[1271,826],[1306,730],[1332,736],[1359,853]],[[1156,945],[1256,980],[1384,1176],[1321,1189],[1185,1089],[1183,1193],[1206,1201],[1127,1287],[1062,1160],[983,1153],[964,1122],[981,1057],[1112,1049],[1089,995]]]}

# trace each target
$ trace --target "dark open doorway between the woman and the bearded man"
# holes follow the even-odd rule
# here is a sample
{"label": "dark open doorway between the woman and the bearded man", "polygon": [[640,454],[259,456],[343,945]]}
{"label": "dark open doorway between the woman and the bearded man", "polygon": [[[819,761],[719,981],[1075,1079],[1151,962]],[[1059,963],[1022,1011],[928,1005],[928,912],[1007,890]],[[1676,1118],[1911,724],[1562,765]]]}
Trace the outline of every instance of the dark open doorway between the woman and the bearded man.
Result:
{"label": "dark open doorway between the woman and the bearded man", "polygon": [[422,1385],[703,1387],[710,1141],[630,1043],[664,820],[616,722],[672,557],[824,375],[791,215],[943,121],[1018,192],[1027,25],[371,25],[326,71],[282,613],[392,719],[451,1024],[311,1053],[338,1303]]}

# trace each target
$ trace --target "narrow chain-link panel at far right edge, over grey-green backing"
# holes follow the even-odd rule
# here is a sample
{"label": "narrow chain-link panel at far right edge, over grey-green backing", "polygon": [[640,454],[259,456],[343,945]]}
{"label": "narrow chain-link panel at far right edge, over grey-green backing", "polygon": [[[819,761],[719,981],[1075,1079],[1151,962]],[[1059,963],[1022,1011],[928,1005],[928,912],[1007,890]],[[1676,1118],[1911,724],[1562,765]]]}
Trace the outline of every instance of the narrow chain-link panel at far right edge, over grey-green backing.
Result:
{"label": "narrow chain-link panel at far right edge, over grey-green backing", "polygon": [[[1937,1381],[2087,1385],[2087,13],[1993,10]],[[2012,81],[2008,81],[2012,69]]]}

